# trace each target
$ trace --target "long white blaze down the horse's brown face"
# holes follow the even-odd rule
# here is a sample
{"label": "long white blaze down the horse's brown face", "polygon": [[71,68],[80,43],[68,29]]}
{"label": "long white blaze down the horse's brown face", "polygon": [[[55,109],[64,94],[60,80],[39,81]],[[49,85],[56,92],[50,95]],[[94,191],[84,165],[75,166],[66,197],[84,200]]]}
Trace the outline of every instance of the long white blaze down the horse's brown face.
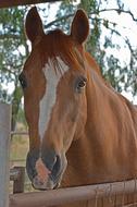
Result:
{"label": "long white blaze down the horse's brown face", "polygon": [[[40,139],[45,136],[52,108],[55,105],[58,84],[64,73],[68,70],[68,66],[61,60],[60,57],[57,57],[55,64],[53,61],[53,59],[48,59],[48,62],[42,70],[46,77],[46,92],[39,104],[38,127]],[[54,66],[57,66],[57,70],[54,70]]]}

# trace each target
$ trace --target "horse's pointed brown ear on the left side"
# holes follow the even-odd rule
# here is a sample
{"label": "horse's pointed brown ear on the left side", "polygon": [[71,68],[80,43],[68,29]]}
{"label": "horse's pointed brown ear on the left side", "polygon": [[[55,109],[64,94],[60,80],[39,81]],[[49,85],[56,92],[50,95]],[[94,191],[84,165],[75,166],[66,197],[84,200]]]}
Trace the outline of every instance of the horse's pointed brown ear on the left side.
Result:
{"label": "horse's pointed brown ear on the left side", "polygon": [[43,35],[42,22],[36,7],[32,8],[27,13],[25,31],[32,44]]}

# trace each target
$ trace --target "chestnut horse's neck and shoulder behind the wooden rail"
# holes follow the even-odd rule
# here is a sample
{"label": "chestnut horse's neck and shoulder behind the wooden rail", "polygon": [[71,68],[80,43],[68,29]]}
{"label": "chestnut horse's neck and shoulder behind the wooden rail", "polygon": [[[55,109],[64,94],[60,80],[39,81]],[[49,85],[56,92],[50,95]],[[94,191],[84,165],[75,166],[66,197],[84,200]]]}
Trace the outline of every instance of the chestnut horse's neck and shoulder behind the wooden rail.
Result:
{"label": "chestnut horse's neck and shoulder behind the wooden rail", "polygon": [[100,77],[95,74],[92,78],[97,80],[87,86],[85,133],[73,142],[67,153],[64,185],[125,180],[137,171],[134,161],[137,130],[130,111],[124,99],[105,83],[98,83]]}

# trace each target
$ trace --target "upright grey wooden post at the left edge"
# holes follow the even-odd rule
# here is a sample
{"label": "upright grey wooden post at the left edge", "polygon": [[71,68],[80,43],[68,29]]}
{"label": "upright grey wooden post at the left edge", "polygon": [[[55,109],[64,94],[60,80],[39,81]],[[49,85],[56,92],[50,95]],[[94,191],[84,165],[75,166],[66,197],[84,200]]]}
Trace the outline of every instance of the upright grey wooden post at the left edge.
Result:
{"label": "upright grey wooden post at the left edge", "polygon": [[9,207],[11,106],[0,104],[0,207]]}

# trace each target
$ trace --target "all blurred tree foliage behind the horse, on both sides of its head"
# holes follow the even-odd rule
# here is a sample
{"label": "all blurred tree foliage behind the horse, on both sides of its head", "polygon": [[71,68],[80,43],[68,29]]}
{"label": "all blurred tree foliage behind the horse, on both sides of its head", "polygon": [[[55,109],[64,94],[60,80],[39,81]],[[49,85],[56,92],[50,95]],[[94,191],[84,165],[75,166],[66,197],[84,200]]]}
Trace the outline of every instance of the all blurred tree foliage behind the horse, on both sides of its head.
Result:
{"label": "all blurred tree foliage behind the horse, on both sides of its head", "polygon": [[[133,47],[128,34],[126,37],[123,36],[115,17],[110,21],[109,15],[111,13],[120,19],[126,15],[135,23],[137,20],[124,0],[113,1],[114,7],[111,8],[108,7],[111,0],[80,0],[78,4],[64,0],[60,3],[55,20],[52,22],[47,22],[52,4],[48,7],[40,4],[39,10],[41,10],[41,16],[45,16],[45,29],[60,27],[66,33],[68,33],[76,9],[86,10],[91,28],[87,50],[96,58],[103,75],[117,92],[130,90],[135,96],[137,92],[137,47]],[[24,34],[24,16],[27,10],[28,7],[0,10],[0,99],[4,102],[12,102],[12,130],[16,127],[16,120],[25,123],[22,89],[17,77],[29,53],[29,44]],[[107,14],[105,17],[103,13]],[[122,47],[128,50],[128,61],[121,60]],[[111,52],[108,52],[109,49]],[[119,57],[113,52],[115,50],[120,52]]]}

